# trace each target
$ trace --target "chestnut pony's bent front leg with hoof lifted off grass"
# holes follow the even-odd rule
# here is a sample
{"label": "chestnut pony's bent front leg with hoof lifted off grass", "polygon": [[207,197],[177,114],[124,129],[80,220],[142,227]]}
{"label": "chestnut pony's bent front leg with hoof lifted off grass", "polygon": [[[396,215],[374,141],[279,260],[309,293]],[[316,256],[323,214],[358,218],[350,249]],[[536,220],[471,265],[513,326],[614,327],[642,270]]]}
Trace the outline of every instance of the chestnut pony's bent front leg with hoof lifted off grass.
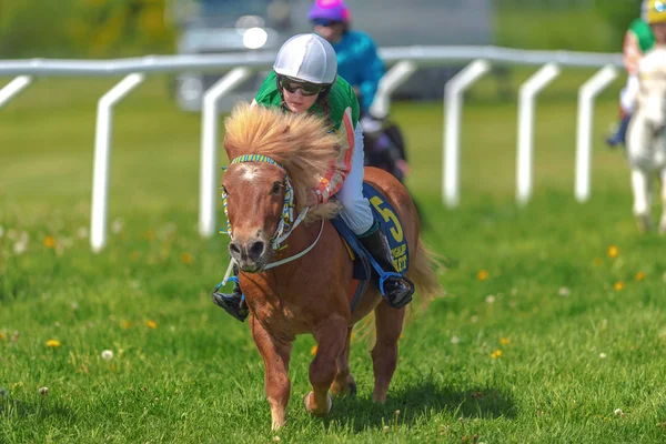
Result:
{"label": "chestnut pony's bent front leg with hoof lifted off grass", "polygon": [[333,406],[329,389],[337,373],[337,363],[344,353],[347,337],[349,324],[342,316],[325,320],[314,332],[316,355],[310,364],[312,392],[305,395],[303,402],[305,410],[315,416],[326,415]]}

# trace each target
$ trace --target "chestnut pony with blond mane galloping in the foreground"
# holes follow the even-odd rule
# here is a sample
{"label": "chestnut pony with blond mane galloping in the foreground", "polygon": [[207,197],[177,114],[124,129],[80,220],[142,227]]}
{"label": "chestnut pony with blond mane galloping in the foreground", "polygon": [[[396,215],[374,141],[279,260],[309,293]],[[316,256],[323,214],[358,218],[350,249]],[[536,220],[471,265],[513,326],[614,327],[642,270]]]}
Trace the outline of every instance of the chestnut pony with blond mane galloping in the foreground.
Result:
{"label": "chestnut pony with blond mane galloping in the foreground", "polygon": [[[273,430],[286,420],[291,392],[287,370],[295,336],[311,333],[316,341],[316,354],[310,364],[312,391],[305,395],[304,404],[311,414],[323,416],[332,407],[329,391],[334,395],[355,393],[349,365],[350,335],[354,323],[372,311],[376,325],[373,400],[385,402],[397,363],[405,309],[390,307],[376,285],[370,285],[351,312],[353,263],[345,243],[327,221],[339,204],[333,200],[311,209],[302,224],[292,224],[283,248],[273,249],[275,233],[282,228],[285,199],[289,202],[293,198],[294,214],[303,210],[306,190],[320,183],[336,157],[337,135],[329,133],[323,120],[315,115],[283,113],[246,103],[234,108],[225,127],[224,148],[232,161],[223,180],[232,235],[229,249],[238,259],[252,337],[264,361]],[[379,169],[366,168],[365,181],[382,192],[402,221],[412,252],[406,275],[422,296],[435,295],[441,289],[431,268],[433,256],[421,243],[410,194],[395,178]],[[306,254],[291,262],[270,266],[309,248]]]}

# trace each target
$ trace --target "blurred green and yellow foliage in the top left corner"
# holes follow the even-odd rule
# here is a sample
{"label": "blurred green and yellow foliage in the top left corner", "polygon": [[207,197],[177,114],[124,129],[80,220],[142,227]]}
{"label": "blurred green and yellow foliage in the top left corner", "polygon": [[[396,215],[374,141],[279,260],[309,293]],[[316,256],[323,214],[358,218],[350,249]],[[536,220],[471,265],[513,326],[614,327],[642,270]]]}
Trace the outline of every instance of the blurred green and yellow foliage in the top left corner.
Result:
{"label": "blurred green and yellow foliage in the top left corner", "polygon": [[0,0],[0,57],[170,53],[165,0]]}

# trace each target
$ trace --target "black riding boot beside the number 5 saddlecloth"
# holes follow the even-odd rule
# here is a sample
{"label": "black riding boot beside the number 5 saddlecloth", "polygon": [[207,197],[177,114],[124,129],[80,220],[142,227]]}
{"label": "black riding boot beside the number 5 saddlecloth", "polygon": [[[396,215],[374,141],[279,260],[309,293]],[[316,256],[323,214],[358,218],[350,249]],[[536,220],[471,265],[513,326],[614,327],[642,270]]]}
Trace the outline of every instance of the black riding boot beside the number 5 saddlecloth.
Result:
{"label": "black riding boot beside the number 5 saddlecloth", "polygon": [[[372,228],[359,236],[359,241],[365,246],[367,252],[380,264],[386,273],[397,273],[393,265],[393,254],[389,240],[380,230],[380,223],[375,221]],[[374,272],[373,272],[374,274]],[[377,281],[377,285],[380,285]],[[390,276],[384,282],[384,300],[394,309],[401,309],[412,302],[414,294],[413,285],[407,285],[403,278]]]}

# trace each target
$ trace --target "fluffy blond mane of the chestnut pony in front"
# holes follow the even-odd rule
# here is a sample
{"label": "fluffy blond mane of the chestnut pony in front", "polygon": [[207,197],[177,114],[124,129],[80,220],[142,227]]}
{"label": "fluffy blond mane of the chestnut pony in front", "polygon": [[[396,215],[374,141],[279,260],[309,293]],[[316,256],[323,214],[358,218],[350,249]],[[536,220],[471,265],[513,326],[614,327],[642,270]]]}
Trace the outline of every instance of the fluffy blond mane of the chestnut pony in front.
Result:
{"label": "fluffy blond mane of the chestnut pony in front", "polygon": [[[306,191],[315,189],[340,153],[340,139],[329,132],[324,120],[307,113],[284,113],[276,108],[236,104],[226,118],[224,149],[229,160],[244,154],[268,155],[286,169],[297,210],[305,203]],[[331,218],[335,202],[316,205],[307,220]]]}

